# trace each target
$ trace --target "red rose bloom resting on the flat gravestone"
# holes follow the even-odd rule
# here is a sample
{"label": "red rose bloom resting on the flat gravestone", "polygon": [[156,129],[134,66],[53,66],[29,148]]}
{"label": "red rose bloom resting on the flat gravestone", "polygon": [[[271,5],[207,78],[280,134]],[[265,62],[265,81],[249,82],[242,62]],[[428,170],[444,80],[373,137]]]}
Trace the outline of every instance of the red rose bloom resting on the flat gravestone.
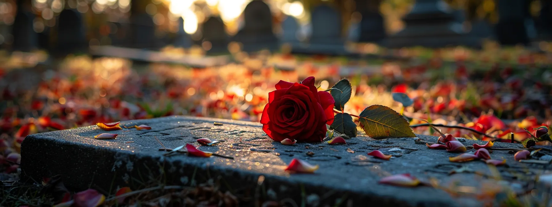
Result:
{"label": "red rose bloom resting on the flat gravestone", "polygon": [[317,91],[314,77],[301,83],[280,81],[276,91],[268,93],[261,124],[274,141],[286,138],[299,142],[321,142],[326,136],[326,124],[333,123],[330,93]]}

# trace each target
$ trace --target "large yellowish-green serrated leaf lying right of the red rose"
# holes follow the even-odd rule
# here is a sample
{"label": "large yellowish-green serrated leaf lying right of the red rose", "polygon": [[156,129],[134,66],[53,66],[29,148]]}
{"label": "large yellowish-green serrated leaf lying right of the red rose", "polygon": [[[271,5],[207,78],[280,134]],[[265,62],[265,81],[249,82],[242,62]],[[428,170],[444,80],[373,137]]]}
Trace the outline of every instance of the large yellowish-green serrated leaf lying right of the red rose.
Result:
{"label": "large yellowish-green serrated leaf lying right of the red rose", "polygon": [[416,137],[405,118],[383,105],[371,105],[360,113],[360,126],[372,139]]}

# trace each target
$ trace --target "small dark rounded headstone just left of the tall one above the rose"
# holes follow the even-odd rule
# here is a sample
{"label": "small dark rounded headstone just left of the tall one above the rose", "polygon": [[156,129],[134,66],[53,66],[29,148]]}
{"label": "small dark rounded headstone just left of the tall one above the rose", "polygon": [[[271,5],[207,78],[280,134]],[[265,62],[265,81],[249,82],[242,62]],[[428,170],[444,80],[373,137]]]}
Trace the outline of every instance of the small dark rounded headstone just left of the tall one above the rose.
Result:
{"label": "small dark rounded headstone just left of the tall one above the rose", "polygon": [[208,53],[221,53],[228,51],[228,35],[224,29],[224,22],[220,17],[209,17],[201,27],[203,41],[211,43]]}

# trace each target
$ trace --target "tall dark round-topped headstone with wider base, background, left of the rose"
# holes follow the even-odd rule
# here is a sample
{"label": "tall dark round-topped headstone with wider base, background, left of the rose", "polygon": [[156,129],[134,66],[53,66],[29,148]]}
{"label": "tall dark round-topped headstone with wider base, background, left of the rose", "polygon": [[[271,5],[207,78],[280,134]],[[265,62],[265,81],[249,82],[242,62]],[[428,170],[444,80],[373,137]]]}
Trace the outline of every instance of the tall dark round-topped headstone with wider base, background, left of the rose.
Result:
{"label": "tall dark round-topped headstone with wider base, background, left of the rose", "polygon": [[243,44],[244,51],[278,49],[278,39],[272,31],[272,13],[266,3],[253,0],[243,10],[244,25],[234,40]]}

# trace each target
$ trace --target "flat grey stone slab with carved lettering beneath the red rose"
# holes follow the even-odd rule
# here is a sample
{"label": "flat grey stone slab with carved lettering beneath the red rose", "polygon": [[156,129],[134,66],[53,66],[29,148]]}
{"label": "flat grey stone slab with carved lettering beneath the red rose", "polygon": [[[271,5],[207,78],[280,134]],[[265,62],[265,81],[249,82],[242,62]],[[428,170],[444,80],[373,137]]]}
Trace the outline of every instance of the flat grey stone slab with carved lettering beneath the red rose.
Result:
{"label": "flat grey stone slab with carved lettering beneath the red rose", "polygon": [[[124,121],[121,124],[147,124],[152,129],[108,131],[119,134],[114,140],[93,139],[94,135],[107,132],[97,126],[27,136],[22,143],[23,179],[40,181],[43,177],[61,174],[63,183],[70,190],[92,186],[106,192],[111,189],[109,193],[113,194],[117,187],[140,189],[140,183],[147,182],[147,178],[162,175],[162,182],[166,185],[189,186],[220,181],[224,183],[221,188],[225,189],[247,191],[261,188],[271,192],[274,200],[290,198],[299,203],[305,197],[317,197],[319,206],[335,205],[339,198],[345,199],[342,202],[348,206],[482,205],[475,197],[452,197],[437,188],[405,188],[378,183],[380,178],[391,174],[411,173],[422,181],[432,178],[442,187],[460,182],[466,189],[470,186],[480,189],[487,181],[496,183],[493,179],[480,176],[491,175],[484,162],[449,162],[448,157],[459,153],[431,150],[423,143],[417,144],[416,138],[372,140],[360,135],[347,140],[347,145],[322,142],[287,146],[272,142],[262,131],[261,124],[247,121],[170,116]],[[418,137],[437,141],[434,136]],[[196,142],[199,138],[222,142],[214,146],[199,146]],[[466,146],[484,144],[482,141],[460,141]],[[167,148],[189,143],[199,146],[199,150],[233,159],[189,157],[185,154],[164,156],[165,152],[158,150],[162,148],[160,143]],[[520,146],[495,142],[493,147]],[[390,161],[378,160],[367,155],[372,150],[394,157]],[[507,166],[497,167],[503,179],[501,182],[505,184],[521,183],[525,186],[530,179],[522,181],[518,174],[524,174],[526,178],[552,168],[548,164],[516,162],[508,151],[494,150],[491,156],[507,160]],[[284,168],[293,158],[318,164],[320,169],[314,174],[289,174]],[[455,169],[464,171],[451,173]]]}

